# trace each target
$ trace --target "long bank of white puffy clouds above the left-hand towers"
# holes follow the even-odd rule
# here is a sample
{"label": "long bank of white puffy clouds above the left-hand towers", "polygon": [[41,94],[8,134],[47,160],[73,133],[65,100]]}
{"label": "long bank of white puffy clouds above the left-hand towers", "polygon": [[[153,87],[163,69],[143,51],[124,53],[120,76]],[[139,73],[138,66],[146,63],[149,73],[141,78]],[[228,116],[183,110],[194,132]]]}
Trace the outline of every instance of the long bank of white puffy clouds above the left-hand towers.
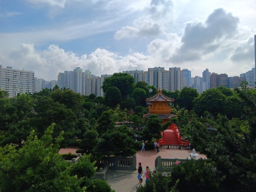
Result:
{"label": "long bank of white puffy clouds above the left-hand towers", "polygon": [[123,70],[146,68],[152,58],[142,53],[133,52],[120,56],[105,49],[96,49],[89,55],[78,56],[71,51],[65,51],[57,45],[50,45],[47,49],[36,51],[33,44],[22,44],[18,50],[10,52],[7,56],[0,57],[0,63],[13,68],[25,68],[35,71],[38,78],[47,80],[57,79],[58,72],[73,70],[81,67],[91,70],[95,75],[112,74]]}

